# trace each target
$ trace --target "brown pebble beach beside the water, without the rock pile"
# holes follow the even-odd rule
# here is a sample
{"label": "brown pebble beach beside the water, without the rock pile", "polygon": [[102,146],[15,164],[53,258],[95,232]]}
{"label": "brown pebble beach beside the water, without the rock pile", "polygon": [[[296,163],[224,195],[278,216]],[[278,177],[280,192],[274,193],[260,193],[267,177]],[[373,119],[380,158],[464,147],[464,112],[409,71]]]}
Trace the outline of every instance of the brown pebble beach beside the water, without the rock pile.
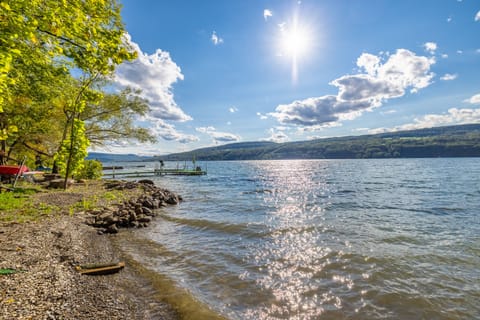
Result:
{"label": "brown pebble beach beside the water, without the rock pile", "polygon": [[78,264],[125,258],[115,235],[85,224],[87,216],[59,212],[37,222],[0,224],[0,268],[20,270],[0,275],[0,319],[179,319],[128,262],[111,275],[75,270]]}

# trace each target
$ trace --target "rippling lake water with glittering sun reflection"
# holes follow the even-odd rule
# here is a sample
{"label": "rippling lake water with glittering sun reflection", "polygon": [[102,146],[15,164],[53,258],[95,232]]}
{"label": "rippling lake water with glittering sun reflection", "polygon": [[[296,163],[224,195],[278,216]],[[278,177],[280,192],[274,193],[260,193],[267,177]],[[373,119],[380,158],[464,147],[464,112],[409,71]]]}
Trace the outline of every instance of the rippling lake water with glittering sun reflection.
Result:
{"label": "rippling lake water with glittering sun reflection", "polygon": [[201,165],[119,236],[185,319],[480,319],[480,158]]}

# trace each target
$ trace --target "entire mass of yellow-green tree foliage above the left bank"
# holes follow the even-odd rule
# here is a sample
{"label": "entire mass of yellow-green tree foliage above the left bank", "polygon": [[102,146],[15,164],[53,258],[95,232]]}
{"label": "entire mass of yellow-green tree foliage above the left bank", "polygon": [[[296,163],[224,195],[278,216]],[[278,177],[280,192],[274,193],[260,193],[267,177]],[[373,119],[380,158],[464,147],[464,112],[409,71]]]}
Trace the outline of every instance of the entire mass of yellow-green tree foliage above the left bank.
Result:
{"label": "entire mass of yellow-green tree foliage above the left bank", "polygon": [[104,98],[115,66],[136,57],[124,34],[118,0],[0,0],[0,162],[57,154],[70,175],[90,137],[153,140],[133,125],[148,111],[138,93]]}

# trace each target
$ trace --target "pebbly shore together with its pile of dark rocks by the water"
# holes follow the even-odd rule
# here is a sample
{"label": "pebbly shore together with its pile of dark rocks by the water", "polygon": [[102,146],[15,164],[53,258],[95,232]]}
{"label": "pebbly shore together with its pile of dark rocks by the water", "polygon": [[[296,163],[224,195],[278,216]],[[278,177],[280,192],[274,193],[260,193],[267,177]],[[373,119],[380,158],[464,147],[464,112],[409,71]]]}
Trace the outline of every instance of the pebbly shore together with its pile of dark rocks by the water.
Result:
{"label": "pebbly shore together with its pile of dark rocks by the water", "polygon": [[[133,266],[103,276],[80,275],[75,266],[122,260],[112,233],[146,227],[156,210],[181,197],[148,181],[72,188],[32,199],[61,212],[37,222],[0,224],[0,269],[17,271],[0,275],[0,319],[177,319],[170,306],[141,294],[148,282]],[[67,210],[84,201],[85,192],[112,189],[129,196],[74,214]]]}

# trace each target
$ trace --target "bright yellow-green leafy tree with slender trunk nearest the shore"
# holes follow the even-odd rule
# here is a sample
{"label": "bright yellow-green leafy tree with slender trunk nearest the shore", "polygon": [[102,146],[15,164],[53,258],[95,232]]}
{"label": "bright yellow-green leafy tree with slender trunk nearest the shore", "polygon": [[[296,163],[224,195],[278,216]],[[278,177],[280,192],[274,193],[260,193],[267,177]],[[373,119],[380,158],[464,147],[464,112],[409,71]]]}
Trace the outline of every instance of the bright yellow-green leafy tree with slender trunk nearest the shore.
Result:
{"label": "bright yellow-green leafy tree with slender trunk nearest the shore", "polygon": [[[12,87],[28,85],[13,65],[38,63],[76,70],[80,86],[74,99],[65,105],[66,122],[60,151],[69,144],[66,179],[72,171],[72,153],[83,153],[88,143],[81,114],[95,103],[101,92],[88,90],[99,76],[111,74],[115,66],[135,57],[124,41],[120,7],[115,0],[10,0],[0,1],[0,127],[2,147],[17,132],[5,105],[14,105]],[[27,68],[20,68],[26,70]],[[93,100],[91,98],[93,97]],[[83,136],[82,136],[83,135]],[[79,139],[81,143],[77,143]],[[82,142],[83,141],[83,142]],[[88,141],[87,141],[88,142]],[[58,157],[59,159],[65,159]],[[65,180],[65,184],[66,184]]]}

